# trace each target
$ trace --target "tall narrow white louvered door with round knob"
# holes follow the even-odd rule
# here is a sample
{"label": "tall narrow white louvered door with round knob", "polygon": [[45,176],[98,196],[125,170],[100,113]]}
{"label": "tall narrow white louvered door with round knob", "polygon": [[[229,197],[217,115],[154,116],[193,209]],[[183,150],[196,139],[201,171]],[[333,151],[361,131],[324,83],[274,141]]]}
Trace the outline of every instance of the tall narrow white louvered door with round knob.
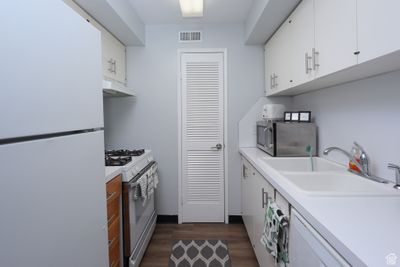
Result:
{"label": "tall narrow white louvered door with round knob", "polygon": [[224,222],[223,57],[181,54],[182,222]]}

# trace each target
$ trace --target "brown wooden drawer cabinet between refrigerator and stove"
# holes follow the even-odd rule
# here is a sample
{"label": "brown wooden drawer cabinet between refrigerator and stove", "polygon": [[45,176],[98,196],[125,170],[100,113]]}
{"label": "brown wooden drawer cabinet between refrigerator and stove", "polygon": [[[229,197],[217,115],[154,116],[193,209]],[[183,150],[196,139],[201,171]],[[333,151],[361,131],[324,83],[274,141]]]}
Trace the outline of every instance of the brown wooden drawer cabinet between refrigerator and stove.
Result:
{"label": "brown wooden drawer cabinet between refrigerator and stove", "polygon": [[122,189],[121,175],[114,177],[106,185],[108,255],[110,267],[120,266],[120,197]]}

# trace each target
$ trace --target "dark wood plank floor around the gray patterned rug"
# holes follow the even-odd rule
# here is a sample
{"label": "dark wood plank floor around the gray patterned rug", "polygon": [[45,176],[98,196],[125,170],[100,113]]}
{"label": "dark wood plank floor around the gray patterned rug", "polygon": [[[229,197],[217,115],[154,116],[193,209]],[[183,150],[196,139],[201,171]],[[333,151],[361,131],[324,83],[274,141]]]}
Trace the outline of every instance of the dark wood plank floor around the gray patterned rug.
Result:
{"label": "dark wood plank floor around the gray patterned rug", "polygon": [[172,240],[221,239],[228,242],[232,267],[258,267],[243,224],[157,224],[141,267],[166,267]]}

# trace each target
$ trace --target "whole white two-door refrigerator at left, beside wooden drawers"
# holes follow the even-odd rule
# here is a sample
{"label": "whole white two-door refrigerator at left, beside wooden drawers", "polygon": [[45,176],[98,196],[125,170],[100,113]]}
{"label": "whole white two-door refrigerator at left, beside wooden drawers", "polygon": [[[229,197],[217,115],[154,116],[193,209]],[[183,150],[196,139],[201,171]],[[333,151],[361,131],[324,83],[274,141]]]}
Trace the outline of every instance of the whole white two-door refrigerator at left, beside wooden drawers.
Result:
{"label": "whole white two-door refrigerator at left, beside wooden drawers", "polygon": [[100,33],[2,1],[0,266],[108,266]]}

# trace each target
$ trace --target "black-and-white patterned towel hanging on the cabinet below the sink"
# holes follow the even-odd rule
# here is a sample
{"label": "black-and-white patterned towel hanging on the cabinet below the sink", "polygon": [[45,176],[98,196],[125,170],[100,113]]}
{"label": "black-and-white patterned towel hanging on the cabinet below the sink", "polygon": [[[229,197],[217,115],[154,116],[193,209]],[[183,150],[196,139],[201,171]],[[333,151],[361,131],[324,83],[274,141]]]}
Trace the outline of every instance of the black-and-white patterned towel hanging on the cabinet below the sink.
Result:
{"label": "black-and-white patterned towel hanging on the cabinet below the sink", "polygon": [[264,230],[260,241],[276,262],[284,265],[289,263],[289,221],[272,199],[268,199]]}

